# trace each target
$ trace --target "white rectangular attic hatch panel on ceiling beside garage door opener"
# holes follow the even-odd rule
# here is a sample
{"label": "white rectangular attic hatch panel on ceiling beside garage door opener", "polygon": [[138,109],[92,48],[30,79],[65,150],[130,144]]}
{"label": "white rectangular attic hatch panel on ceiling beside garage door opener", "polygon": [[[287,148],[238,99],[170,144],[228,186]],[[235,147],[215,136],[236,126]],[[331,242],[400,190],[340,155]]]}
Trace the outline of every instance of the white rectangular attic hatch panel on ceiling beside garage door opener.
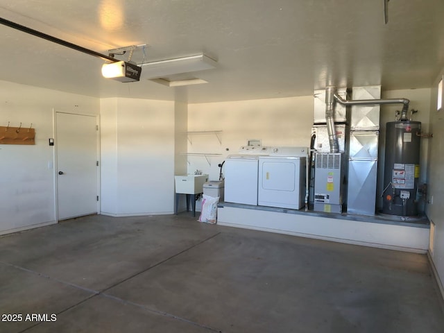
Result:
{"label": "white rectangular attic hatch panel on ceiling beside garage door opener", "polygon": [[208,58],[204,54],[185,58],[160,60],[140,64],[142,76],[146,79],[164,78],[174,74],[189,73],[191,71],[203,71],[213,69],[217,62]]}

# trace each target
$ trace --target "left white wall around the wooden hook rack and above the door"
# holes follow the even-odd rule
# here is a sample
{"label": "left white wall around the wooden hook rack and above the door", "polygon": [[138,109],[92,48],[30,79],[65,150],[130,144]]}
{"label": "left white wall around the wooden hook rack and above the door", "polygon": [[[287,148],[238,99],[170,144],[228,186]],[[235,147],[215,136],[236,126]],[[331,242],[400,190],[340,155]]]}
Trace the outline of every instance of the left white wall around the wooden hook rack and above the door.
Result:
{"label": "left white wall around the wooden hook rack and above the door", "polygon": [[99,114],[99,99],[0,81],[0,103],[0,126],[35,128],[35,145],[0,145],[0,234],[56,223],[53,109]]}

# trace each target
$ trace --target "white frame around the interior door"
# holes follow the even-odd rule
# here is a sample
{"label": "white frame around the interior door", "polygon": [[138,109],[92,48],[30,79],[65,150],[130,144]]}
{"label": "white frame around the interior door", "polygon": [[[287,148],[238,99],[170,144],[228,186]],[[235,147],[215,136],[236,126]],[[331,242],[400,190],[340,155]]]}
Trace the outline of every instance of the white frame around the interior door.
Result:
{"label": "white frame around the interior door", "polygon": [[[101,207],[101,160],[100,160],[100,115],[99,114],[90,114],[90,113],[84,113],[84,112],[69,112],[68,110],[56,110],[56,108],[53,108],[53,137],[54,137],[54,148],[53,148],[53,177],[54,177],[54,214],[56,216],[56,223],[59,223],[59,214],[58,214],[58,177],[57,177],[57,171],[58,171],[58,155],[57,155],[57,114],[58,113],[65,113],[65,114],[76,114],[78,116],[88,116],[88,117],[95,117],[96,118],[96,152],[97,156],[96,159],[99,162],[99,166],[97,167],[97,185],[96,185],[96,193],[97,196],[99,196],[99,200],[97,200],[96,204],[96,213],[100,214],[100,207]],[[74,218],[73,218],[74,219]]]}

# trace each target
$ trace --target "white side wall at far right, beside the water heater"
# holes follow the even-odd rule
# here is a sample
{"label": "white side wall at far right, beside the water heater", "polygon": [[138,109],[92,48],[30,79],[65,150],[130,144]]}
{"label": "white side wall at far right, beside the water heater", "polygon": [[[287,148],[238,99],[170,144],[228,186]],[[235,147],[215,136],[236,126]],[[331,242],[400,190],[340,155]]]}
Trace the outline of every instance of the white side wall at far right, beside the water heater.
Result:
{"label": "white side wall at far right, beside the water heater", "polygon": [[[430,132],[433,138],[429,139],[429,198],[433,196],[433,204],[427,206],[427,216],[434,223],[434,239],[430,248],[430,255],[444,286],[444,110],[436,111],[438,96],[438,80],[444,74],[444,69],[436,78],[430,97]],[[441,289],[444,296],[444,289]]]}

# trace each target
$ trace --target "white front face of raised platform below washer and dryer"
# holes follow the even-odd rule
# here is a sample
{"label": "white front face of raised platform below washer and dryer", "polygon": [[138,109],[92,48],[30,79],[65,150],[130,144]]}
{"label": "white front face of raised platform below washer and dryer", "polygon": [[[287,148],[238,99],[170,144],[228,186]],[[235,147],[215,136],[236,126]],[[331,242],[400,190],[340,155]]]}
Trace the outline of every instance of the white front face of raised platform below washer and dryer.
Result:
{"label": "white front face of raised platform below washer and dryer", "polygon": [[219,225],[292,234],[294,236],[372,246],[413,253],[427,253],[429,228],[411,225],[334,219],[316,214],[291,214],[243,207],[218,207]]}

